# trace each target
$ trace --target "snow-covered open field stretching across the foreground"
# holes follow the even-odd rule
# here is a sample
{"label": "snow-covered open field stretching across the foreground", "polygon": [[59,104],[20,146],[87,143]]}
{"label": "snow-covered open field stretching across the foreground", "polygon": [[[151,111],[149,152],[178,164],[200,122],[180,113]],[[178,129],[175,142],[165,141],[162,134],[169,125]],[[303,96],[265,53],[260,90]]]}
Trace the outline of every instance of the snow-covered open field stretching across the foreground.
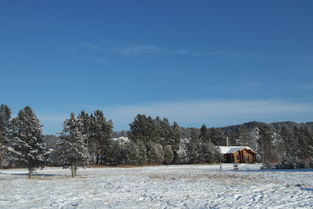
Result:
{"label": "snow-covered open field stretching across the foreground", "polygon": [[313,170],[259,165],[0,170],[0,208],[313,208]]}

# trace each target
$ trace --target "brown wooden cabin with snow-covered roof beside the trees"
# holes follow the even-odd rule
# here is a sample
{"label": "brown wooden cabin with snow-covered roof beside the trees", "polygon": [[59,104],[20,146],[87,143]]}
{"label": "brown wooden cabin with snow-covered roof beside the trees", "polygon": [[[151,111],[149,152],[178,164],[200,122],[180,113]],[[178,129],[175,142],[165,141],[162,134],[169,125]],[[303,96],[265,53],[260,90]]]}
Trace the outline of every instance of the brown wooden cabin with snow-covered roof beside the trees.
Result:
{"label": "brown wooden cabin with snow-covered roof beside the trees", "polygon": [[246,146],[219,146],[224,163],[255,163],[256,152]]}

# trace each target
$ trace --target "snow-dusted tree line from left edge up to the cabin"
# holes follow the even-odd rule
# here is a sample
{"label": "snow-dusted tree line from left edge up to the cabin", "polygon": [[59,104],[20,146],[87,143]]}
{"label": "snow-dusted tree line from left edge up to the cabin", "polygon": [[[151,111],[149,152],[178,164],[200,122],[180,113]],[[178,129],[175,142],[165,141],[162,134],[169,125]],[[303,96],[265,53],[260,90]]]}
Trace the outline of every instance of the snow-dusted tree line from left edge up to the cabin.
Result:
{"label": "snow-dusted tree line from left edge up to the cabin", "polygon": [[[125,132],[113,138],[113,122],[101,110],[92,114],[74,113],[63,123],[58,136],[44,136],[42,125],[31,107],[11,118],[7,105],[0,106],[0,162],[9,167],[26,167],[29,177],[45,165],[77,168],[87,165],[155,165],[214,163],[221,155],[204,132],[191,138],[187,152],[181,150],[182,129],[168,119],[138,114]],[[52,140],[51,140],[52,139]]]}

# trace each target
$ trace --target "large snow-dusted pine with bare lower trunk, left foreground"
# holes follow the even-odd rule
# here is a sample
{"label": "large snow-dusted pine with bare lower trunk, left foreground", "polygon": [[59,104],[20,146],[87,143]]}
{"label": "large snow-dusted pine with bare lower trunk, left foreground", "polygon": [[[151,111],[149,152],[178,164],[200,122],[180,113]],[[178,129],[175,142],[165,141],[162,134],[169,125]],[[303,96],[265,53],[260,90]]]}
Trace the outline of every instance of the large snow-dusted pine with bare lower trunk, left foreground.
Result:
{"label": "large snow-dusted pine with bare lower trunk, left foreground", "polygon": [[10,128],[9,150],[18,165],[28,168],[29,178],[36,168],[44,166],[48,157],[41,127],[35,113],[27,106],[12,120]]}

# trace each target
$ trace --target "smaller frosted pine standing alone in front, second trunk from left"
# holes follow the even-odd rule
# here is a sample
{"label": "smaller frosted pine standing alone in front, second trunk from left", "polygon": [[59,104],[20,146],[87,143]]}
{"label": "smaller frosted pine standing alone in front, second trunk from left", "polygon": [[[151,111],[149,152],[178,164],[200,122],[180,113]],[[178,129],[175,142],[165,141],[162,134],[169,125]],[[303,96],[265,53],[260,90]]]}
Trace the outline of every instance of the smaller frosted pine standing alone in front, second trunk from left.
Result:
{"label": "smaller frosted pine standing alone in front, second trunk from left", "polygon": [[63,168],[71,168],[72,177],[76,176],[77,168],[86,167],[90,159],[87,136],[82,132],[81,119],[76,119],[74,113],[71,113],[70,119],[64,121],[59,143],[59,157]]}

